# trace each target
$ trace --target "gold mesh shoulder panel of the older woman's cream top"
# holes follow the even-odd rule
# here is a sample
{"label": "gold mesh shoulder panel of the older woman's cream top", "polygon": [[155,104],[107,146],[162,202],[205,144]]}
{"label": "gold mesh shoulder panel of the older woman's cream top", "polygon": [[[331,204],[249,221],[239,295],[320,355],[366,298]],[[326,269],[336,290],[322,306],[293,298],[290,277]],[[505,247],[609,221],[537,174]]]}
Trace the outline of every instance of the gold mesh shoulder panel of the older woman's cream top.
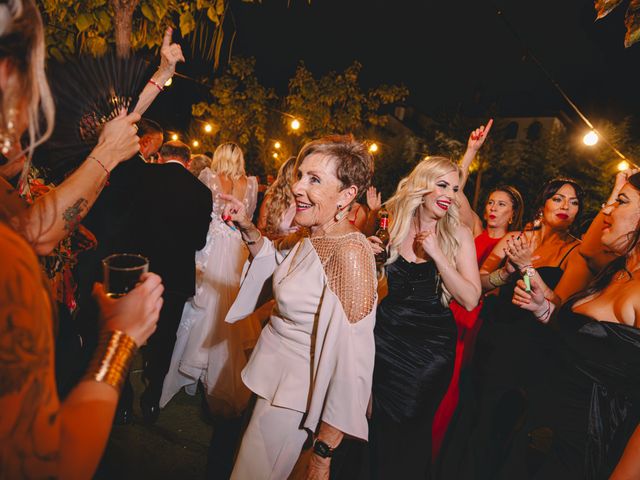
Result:
{"label": "gold mesh shoulder panel of the older woman's cream top", "polygon": [[351,236],[335,245],[325,267],[329,288],[336,294],[347,319],[356,323],[376,303],[376,266],[364,236]]}

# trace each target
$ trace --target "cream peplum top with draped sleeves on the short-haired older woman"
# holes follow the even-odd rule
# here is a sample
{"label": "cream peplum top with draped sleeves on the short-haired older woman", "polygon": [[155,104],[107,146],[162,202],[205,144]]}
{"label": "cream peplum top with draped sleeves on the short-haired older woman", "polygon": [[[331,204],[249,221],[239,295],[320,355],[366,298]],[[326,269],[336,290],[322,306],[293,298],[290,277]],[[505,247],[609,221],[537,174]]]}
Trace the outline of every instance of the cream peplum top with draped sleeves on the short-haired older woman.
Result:
{"label": "cream peplum top with draped sleeves on the short-haired older woman", "polygon": [[275,306],[242,371],[244,383],[272,405],[306,413],[304,427],[312,432],[322,420],[367,440],[375,307],[359,322],[349,323],[309,239],[287,252],[265,239],[258,255],[245,264],[227,322],[255,310],[270,277]]}

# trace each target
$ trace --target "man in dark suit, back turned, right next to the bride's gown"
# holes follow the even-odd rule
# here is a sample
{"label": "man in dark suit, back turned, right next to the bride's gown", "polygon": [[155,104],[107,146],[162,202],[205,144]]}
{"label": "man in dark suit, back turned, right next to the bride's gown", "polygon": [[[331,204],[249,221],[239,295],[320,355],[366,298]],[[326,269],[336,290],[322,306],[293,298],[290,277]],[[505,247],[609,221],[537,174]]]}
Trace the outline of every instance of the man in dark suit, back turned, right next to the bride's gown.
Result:
{"label": "man in dark suit, back turned, right next to the bride's gown", "polygon": [[182,309],[195,294],[195,252],[205,245],[212,209],[211,191],[187,170],[189,147],[167,142],[159,153],[159,164],[142,169],[127,236],[127,246],[149,259],[149,270],[159,274],[165,286],[158,328],[143,350],[148,385],[140,406],[149,422],[158,416]]}

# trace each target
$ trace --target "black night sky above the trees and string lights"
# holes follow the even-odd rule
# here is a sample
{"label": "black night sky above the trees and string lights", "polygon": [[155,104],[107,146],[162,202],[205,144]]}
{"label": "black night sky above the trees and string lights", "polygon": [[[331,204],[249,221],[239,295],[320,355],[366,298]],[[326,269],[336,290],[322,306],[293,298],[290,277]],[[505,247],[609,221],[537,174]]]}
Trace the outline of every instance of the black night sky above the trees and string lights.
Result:
{"label": "black night sky above the trees and string lights", "polygon": [[[496,3],[594,121],[638,113],[640,44],[624,48],[623,9],[594,23],[593,0]],[[300,60],[316,75],[359,60],[365,86],[404,83],[411,92],[407,103],[426,113],[471,104],[478,94],[483,104],[497,102],[504,114],[569,112],[540,70],[522,61],[522,47],[493,5],[489,0],[290,0],[287,7],[286,0],[256,5],[236,0],[233,54],[256,57],[260,81],[279,93]],[[194,71],[194,65],[182,68]],[[186,87],[182,82],[177,86]]]}

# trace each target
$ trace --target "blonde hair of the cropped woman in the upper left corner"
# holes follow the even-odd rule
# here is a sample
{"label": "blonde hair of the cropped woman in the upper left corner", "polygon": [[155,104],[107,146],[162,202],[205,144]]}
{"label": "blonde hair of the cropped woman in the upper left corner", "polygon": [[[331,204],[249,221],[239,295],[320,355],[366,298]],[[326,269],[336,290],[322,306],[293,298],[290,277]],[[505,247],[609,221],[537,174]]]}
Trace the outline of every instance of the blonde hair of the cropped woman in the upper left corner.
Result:
{"label": "blonde hair of the cropped woman in the upper left corner", "polygon": [[[29,143],[18,157],[27,154],[23,179],[30,167],[33,150],[53,131],[55,107],[44,70],[44,30],[40,12],[33,0],[8,0],[0,4],[0,59],[8,59],[15,72],[6,91],[0,91],[0,133],[12,135],[20,100],[28,101]],[[40,110],[44,114],[44,131],[40,130]],[[19,113],[18,113],[19,114]],[[21,132],[16,132],[19,134]],[[19,142],[18,135],[13,139]]]}

